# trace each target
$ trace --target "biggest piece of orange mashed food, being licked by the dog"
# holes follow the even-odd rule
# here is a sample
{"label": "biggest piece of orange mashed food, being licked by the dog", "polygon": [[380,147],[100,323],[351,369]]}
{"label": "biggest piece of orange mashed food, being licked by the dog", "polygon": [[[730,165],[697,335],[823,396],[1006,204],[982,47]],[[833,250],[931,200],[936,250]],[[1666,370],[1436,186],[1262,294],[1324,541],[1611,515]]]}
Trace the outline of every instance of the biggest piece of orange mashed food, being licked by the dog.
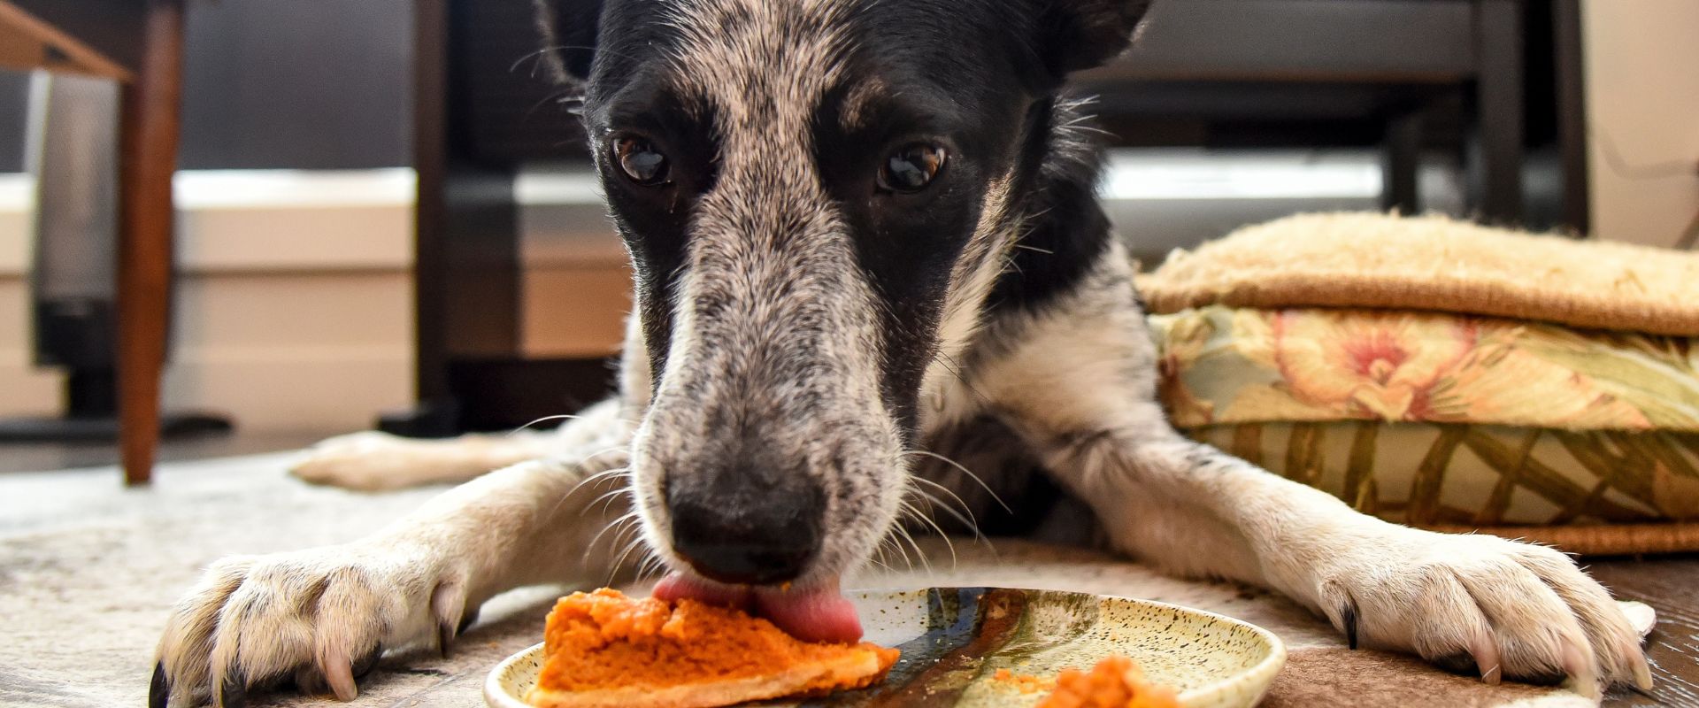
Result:
{"label": "biggest piece of orange mashed food, being licked by the dog", "polygon": [[598,589],[561,598],[525,701],[542,708],[712,708],[817,696],[883,679],[895,649],[797,640],[739,610],[634,599]]}

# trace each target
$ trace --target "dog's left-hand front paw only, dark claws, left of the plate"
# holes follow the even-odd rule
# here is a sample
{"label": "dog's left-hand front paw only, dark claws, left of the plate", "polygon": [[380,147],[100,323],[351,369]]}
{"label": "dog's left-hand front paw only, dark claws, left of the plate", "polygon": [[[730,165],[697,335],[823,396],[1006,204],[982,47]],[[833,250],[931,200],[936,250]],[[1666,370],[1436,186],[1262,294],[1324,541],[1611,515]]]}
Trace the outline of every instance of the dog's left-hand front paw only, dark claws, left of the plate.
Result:
{"label": "dog's left-hand front paw only, dark claws, left of the plate", "polygon": [[447,652],[467,616],[464,577],[403,543],[219,560],[172,611],[148,705],[233,708],[287,686],[353,700],[386,649]]}

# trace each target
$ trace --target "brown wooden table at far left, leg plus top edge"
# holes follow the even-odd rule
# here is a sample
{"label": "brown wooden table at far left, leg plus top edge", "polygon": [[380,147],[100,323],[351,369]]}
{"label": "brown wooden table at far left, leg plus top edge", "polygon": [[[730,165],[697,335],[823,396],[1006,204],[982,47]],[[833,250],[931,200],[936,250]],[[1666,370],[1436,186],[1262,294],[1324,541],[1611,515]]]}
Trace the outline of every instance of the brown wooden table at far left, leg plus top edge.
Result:
{"label": "brown wooden table at far left, leg plus top edge", "polygon": [[183,0],[0,0],[0,65],[124,83],[117,406],[124,479],[151,477],[172,292]]}

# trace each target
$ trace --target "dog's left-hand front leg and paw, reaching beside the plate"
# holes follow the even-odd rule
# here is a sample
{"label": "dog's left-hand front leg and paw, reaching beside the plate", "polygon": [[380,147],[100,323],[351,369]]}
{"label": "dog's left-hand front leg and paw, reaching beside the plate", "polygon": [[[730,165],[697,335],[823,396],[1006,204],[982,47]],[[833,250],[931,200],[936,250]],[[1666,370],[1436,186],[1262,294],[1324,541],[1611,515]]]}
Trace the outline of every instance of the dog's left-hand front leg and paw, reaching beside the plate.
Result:
{"label": "dog's left-hand front leg and paw, reaching beside the plate", "polygon": [[[353,543],[214,564],[173,610],[150,705],[245,703],[294,679],[357,694],[384,649],[450,640],[496,593],[537,582],[607,582],[624,513],[624,423],[579,453],[523,462],[443,492]],[[613,494],[605,497],[605,494]]]}

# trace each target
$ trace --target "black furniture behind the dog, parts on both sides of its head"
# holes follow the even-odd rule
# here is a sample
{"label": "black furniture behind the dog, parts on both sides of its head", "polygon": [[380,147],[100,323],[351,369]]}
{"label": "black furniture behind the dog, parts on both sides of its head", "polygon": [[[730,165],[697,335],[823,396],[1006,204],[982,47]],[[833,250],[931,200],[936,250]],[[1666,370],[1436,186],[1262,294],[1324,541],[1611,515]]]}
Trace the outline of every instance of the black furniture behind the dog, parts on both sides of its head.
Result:
{"label": "black furniture behind the dog, parts on both sides of its head", "polygon": [[[567,413],[610,375],[601,360],[523,355],[515,175],[584,165],[578,121],[533,70],[530,2],[416,8],[420,404],[382,428]],[[1578,37],[1578,0],[1155,0],[1135,49],[1077,83],[1116,146],[1374,146],[1383,205],[1405,212],[1420,209],[1424,155],[1441,155],[1466,165],[1480,219],[1585,231]],[[1526,209],[1529,144],[1560,155],[1555,219]]]}

